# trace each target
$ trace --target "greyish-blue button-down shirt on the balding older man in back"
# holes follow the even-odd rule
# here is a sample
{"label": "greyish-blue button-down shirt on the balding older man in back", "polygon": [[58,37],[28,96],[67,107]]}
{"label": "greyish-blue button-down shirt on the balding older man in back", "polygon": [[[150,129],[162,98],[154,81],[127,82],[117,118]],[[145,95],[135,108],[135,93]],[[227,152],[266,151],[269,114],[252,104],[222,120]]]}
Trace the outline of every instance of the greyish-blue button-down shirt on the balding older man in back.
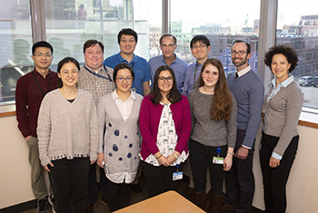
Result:
{"label": "greyish-blue button-down shirt on the balding older man in back", "polygon": [[[175,54],[174,56],[175,56],[175,60],[169,66],[173,68],[177,88],[180,92],[182,92],[184,87],[185,70],[186,68],[188,68],[188,63],[178,58]],[[158,67],[162,65],[167,66],[168,64],[164,61],[164,55],[161,54],[149,59],[148,65],[149,65],[152,82],[154,82],[154,73],[158,69]]]}

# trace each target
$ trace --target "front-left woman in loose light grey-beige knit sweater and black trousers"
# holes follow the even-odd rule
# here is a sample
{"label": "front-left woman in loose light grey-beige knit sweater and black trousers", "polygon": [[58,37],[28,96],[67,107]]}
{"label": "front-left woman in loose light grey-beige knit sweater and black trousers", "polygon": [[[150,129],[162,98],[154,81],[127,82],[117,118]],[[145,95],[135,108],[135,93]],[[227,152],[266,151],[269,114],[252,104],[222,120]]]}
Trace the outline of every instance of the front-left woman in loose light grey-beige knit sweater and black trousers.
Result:
{"label": "front-left woman in loose light grey-beige knit sweater and black trousers", "polygon": [[91,93],[76,88],[79,69],[72,57],[58,63],[63,86],[45,95],[38,117],[39,157],[55,193],[56,212],[71,212],[71,200],[73,212],[85,212],[89,165],[97,159],[96,106]]}

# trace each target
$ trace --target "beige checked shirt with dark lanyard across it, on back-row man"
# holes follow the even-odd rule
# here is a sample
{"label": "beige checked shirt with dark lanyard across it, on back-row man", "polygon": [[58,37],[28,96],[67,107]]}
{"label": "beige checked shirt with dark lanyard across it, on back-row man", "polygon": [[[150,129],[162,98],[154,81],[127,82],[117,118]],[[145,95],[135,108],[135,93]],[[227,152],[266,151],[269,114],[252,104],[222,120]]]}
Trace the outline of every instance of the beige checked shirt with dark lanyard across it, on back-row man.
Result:
{"label": "beige checked shirt with dark lanyard across it, on back-row man", "polygon": [[[85,67],[89,69],[92,73],[95,73],[94,70],[88,68],[87,66]],[[106,66],[105,68],[106,70],[104,70],[104,66],[103,66],[98,71],[98,74],[103,75],[106,78],[110,77],[112,81],[110,81],[109,79],[98,77],[92,73],[89,73],[84,68],[84,66],[82,66],[80,70],[80,76],[77,82],[78,88],[91,92],[93,94],[94,102],[96,106],[97,106],[97,103],[99,102],[99,99],[102,96],[110,92],[113,92],[115,88],[114,81],[113,81],[114,70]]]}

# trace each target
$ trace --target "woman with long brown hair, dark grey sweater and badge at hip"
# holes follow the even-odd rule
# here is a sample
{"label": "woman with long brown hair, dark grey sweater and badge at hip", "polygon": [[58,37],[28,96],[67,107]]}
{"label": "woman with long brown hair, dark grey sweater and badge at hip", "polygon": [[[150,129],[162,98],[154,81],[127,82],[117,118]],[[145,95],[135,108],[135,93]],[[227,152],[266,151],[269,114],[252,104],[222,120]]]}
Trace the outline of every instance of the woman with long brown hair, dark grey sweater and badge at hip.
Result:
{"label": "woman with long brown hair, dark grey sweater and badge at hip", "polygon": [[194,203],[205,208],[206,170],[209,167],[212,196],[208,212],[220,212],[224,170],[232,167],[236,139],[237,105],[226,84],[223,64],[207,59],[200,87],[189,94],[192,134],[189,145],[194,175]]}

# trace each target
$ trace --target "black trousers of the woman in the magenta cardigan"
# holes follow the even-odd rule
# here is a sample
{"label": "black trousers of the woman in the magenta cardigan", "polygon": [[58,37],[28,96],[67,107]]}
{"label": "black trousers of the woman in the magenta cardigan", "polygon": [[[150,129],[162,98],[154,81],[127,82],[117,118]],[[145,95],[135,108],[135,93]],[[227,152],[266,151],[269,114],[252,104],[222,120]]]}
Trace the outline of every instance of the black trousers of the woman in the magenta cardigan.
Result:
{"label": "black trousers of the woman in the magenta cardigan", "polygon": [[[141,160],[144,179],[149,193],[149,198],[164,193],[168,190],[176,190],[178,181],[173,180],[173,173],[176,172],[175,166],[155,167]],[[184,163],[180,164],[179,171],[184,168]]]}

